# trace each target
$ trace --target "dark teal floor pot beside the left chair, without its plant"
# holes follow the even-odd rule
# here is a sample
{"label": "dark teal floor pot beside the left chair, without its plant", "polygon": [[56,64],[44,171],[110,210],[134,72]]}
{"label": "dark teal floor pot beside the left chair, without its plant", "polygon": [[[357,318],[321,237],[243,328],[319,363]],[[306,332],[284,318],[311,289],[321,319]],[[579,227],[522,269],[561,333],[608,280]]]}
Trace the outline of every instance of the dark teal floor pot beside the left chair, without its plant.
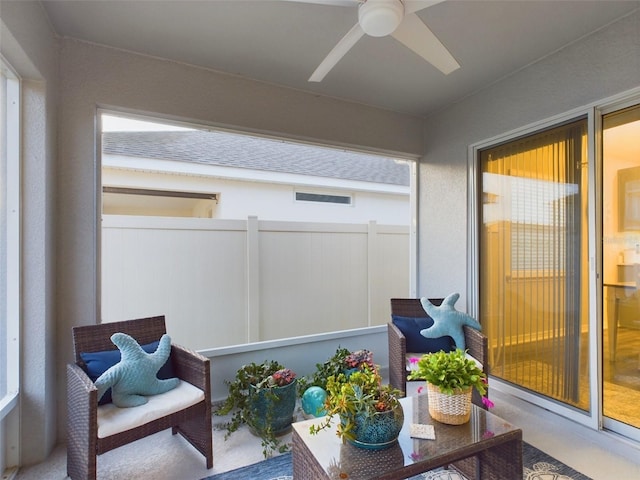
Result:
{"label": "dark teal floor pot beside the left chair, without its plant", "polygon": [[296,382],[284,387],[256,389],[249,392],[249,408],[252,418],[248,422],[254,433],[271,428],[274,435],[283,435],[291,429],[296,407]]}

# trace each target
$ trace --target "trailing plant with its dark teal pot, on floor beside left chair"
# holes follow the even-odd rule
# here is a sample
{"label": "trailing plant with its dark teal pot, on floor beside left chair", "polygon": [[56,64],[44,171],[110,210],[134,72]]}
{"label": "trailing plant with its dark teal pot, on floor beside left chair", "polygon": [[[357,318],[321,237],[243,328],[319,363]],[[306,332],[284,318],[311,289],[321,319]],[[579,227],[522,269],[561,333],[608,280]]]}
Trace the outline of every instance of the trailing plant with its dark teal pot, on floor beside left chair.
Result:
{"label": "trailing plant with its dark teal pot, on floor beside left chair", "polygon": [[225,440],[242,424],[262,438],[265,457],[273,451],[284,452],[279,436],[288,432],[296,405],[296,374],[276,361],[250,363],[236,372],[235,380],[225,382],[229,395],[214,413],[227,415]]}

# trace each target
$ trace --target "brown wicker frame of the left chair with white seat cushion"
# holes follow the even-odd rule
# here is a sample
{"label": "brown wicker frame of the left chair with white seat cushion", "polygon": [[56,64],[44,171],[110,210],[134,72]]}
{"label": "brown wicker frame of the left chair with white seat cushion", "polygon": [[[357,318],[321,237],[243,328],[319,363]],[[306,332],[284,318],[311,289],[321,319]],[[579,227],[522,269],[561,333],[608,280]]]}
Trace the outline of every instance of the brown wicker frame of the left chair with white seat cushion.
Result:
{"label": "brown wicker frame of the left chair with white seat cushion", "polygon": [[[83,362],[80,353],[115,349],[110,337],[116,332],[131,335],[141,345],[154,342],[166,333],[165,319],[164,316],[149,317],[74,327],[72,331],[76,363],[67,365],[67,475],[71,479],[95,479],[97,455],[169,427],[174,435],[180,433],[205,456],[207,468],[213,467],[209,359],[180,346],[172,345],[169,358],[175,375],[202,390],[204,398],[177,412],[100,438],[98,408],[108,405],[98,406],[98,391],[81,367]],[[123,413],[125,410],[133,409],[123,408]]]}

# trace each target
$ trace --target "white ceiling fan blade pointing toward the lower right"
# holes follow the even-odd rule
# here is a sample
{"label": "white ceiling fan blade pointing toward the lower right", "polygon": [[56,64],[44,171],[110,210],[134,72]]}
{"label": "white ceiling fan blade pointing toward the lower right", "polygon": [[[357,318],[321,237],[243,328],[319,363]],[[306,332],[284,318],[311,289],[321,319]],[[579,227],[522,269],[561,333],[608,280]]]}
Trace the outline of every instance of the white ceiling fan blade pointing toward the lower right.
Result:
{"label": "white ceiling fan blade pointing toward the lower right", "polygon": [[391,35],[445,75],[460,68],[449,50],[415,13],[405,15],[400,26]]}

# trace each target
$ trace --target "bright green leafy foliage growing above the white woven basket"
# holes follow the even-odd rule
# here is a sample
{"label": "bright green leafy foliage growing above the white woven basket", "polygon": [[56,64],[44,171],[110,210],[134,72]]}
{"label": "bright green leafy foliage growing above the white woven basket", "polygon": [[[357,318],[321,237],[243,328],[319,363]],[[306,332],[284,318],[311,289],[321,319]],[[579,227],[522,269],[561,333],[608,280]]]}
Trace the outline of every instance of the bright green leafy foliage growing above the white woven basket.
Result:
{"label": "bright green leafy foliage growing above the white woven basket", "polygon": [[426,353],[417,361],[412,359],[412,363],[415,369],[409,380],[425,380],[449,395],[468,387],[475,388],[480,395],[487,392],[486,374],[463,350]]}

